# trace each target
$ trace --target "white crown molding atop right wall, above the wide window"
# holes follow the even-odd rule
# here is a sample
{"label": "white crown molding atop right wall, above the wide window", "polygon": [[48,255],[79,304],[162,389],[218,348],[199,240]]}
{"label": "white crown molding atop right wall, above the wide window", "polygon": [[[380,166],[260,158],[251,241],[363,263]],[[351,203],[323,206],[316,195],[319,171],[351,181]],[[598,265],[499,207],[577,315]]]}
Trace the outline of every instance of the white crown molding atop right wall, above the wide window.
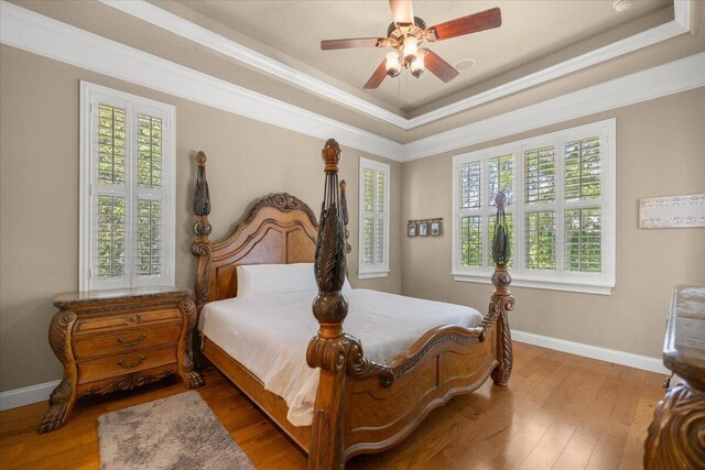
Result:
{"label": "white crown molding atop right wall, above the wide window", "polygon": [[705,53],[404,144],[404,161],[513,135],[571,119],[705,86]]}

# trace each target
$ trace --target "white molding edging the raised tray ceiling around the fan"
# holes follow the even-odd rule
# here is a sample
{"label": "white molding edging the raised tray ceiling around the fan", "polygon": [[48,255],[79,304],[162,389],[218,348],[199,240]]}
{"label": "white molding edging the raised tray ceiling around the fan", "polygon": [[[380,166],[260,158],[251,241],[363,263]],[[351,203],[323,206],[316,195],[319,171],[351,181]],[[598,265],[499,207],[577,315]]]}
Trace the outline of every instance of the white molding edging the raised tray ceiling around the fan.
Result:
{"label": "white molding edging the raised tray ceiling around the fan", "polygon": [[506,97],[545,81],[562,77],[583,68],[612,59],[620,55],[666,41],[687,33],[691,30],[691,0],[674,0],[674,19],[668,23],[616,41],[586,54],[570,58],[560,64],[500,85],[487,91],[453,102],[448,106],[429,111],[412,119],[405,119],[387,109],[373,105],[362,98],[344,91],[333,85],[312,77],[301,70],[278,62],[264,54],[199,26],[176,14],[170,13],[145,0],[121,1],[99,0],[102,3],[127,14],[147,21],[173,34],[185,37],[210,50],[225,54],[236,61],[258,68],[267,74],[305,88],[357,112],[381,119],[404,130],[437,121],[448,116],[475,108],[486,102]]}

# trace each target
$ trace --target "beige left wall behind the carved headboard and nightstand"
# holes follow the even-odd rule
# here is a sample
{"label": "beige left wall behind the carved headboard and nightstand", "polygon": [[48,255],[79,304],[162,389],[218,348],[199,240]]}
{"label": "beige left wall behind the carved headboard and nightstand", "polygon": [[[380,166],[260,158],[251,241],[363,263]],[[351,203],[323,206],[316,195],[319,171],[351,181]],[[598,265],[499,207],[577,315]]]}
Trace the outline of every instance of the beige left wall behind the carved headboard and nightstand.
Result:
{"label": "beige left wall behind the carved headboard and nightstand", "polygon": [[[0,47],[0,391],[61,378],[46,339],[59,292],[78,287],[78,83],[88,80],[176,107],[176,283],[193,285],[194,152],[207,153],[214,240],[257,198],[289,192],[318,212],[324,141]],[[335,138],[335,135],[330,135]],[[401,165],[391,163],[391,273],[357,281],[359,156],[343,149],[348,181],[350,281],[399,293]],[[382,160],[383,161],[383,160]],[[312,331],[312,335],[315,331]]]}

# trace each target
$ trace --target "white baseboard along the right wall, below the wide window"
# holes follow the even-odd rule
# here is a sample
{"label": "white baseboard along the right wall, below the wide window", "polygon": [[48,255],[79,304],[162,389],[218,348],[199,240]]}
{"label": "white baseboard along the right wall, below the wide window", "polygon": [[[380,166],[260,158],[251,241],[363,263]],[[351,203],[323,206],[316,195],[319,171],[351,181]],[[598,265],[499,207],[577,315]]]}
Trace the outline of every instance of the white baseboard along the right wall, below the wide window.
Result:
{"label": "white baseboard along the right wall, below the wide window", "polygon": [[632,354],[631,352],[617,351],[616,349],[600,348],[599,346],[585,345],[582,342],[566,341],[565,339],[552,338],[550,336],[534,335],[527,331],[511,330],[511,339],[528,345],[541,346],[542,348],[554,349],[556,351],[570,352],[571,354],[584,356],[586,358],[598,359],[600,361],[614,362],[615,364],[627,365],[660,374],[671,372],[657,358],[648,356]]}

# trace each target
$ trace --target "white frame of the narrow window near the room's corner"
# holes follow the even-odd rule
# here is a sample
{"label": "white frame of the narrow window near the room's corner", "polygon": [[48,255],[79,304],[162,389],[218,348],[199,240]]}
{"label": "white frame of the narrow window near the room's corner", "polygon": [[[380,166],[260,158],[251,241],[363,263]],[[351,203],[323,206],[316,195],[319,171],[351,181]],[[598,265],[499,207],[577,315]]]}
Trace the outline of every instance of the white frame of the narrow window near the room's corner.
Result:
{"label": "white frame of the narrow window near the room's corner", "polygon": [[[372,262],[372,264],[365,264],[362,262],[362,247],[365,245],[364,240],[364,228],[362,223],[365,221],[365,217],[367,214],[378,215],[379,212],[366,212],[365,211],[365,170],[373,170],[377,172],[382,172],[384,175],[386,184],[384,184],[384,212],[383,212],[383,223],[384,223],[384,262],[377,263]],[[359,206],[359,218],[358,218],[358,271],[357,278],[366,280],[366,278],[375,278],[375,277],[387,277],[390,273],[389,269],[389,228],[390,228],[390,187],[391,187],[391,171],[390,166],[387,163],[378,162],[370,159],[365,159],[360,156],[359,164],[359,194],[358,194],[358,206]],[[372,216],[376,217],[376,216]],[[378,216],[377,216],[378,217]],[[372,223],[372,230],[375,230],[375,223]],[[372,243],[375,243],[375,232],[372,233]],[[372,252],[375,252],[375,247],[372,247]]]}

